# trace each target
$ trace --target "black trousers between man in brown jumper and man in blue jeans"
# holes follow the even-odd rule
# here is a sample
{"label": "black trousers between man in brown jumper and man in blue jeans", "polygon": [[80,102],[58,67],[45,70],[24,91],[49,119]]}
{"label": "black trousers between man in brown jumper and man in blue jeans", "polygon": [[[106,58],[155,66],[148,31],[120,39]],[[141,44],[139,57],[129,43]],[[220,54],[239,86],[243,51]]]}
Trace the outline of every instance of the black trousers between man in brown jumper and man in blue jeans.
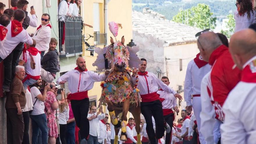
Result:
{"label": "black trousers between man in brown jumper and man in blue jeans", "polygon": [[29,111],[22,112],[23,121],[24,121],[24,135],[22,144],[30,144],[29,143]]}

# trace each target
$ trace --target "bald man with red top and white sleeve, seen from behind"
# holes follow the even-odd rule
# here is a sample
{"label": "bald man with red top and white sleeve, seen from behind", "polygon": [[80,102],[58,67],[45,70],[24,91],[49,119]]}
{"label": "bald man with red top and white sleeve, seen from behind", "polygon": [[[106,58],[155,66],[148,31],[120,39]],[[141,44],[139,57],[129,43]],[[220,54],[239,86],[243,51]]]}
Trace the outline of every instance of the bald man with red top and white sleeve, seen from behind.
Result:
{"label": "bald man with red top and white sleeve, seen from behind", "polygon": [[222,106],[228,93],[239,82],[241,71],[237,68],[232,69],[234,65],[232,57],[216,33],[202,33],[197,44],[203,60],[212,66],[211,71],[206,74],[201,83],[200,131],[207,144],[218,143],[219,127],[224,120]]}

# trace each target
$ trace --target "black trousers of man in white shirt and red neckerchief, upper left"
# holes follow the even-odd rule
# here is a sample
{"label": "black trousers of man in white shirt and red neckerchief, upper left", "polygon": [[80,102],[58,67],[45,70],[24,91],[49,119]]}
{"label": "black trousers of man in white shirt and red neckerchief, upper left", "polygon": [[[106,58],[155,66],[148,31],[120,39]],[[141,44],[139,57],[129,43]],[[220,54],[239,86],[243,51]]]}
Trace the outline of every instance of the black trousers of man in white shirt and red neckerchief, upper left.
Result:
{"label": "black trousers of man in white shirt and red neckerchief, upper left", "polygon": [[4,65],[4,81],[3,89],[10,90],[10,85],[15,76],[15,67],[24,48],[24,43],[20,42],[15,49],[3,60]]}

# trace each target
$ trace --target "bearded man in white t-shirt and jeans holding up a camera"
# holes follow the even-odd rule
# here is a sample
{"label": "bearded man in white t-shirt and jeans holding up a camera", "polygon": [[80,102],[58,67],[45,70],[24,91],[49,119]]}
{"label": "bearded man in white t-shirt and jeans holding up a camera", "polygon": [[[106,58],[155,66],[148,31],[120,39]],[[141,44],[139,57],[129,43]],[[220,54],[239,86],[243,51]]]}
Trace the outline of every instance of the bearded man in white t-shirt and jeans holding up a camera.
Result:
{"label": "bearded man in white t-shirt and jeans holding up a camera", "polygon": [[44,91],[41,94],[39,87],[42,86],[42,78],[40,77],[38,81],[29,86],[30,93],[33,101],[33,111],[30,113],[31,123],[32,123],[32,143],[37,143],[39,129],[42,131],[42,143],[48,142],[48,128],[47,120],[45,115],[45,99],[46,93],[50,88],[49,84],[45,85]]}

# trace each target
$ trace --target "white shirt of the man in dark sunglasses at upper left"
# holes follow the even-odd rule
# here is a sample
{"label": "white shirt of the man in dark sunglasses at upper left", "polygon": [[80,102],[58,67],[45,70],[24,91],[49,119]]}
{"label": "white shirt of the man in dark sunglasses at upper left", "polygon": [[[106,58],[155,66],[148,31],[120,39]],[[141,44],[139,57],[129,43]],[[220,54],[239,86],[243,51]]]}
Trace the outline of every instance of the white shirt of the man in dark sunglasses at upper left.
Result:
{"label": "white shirt of the man in dark sunglasses at upper left", "polygon": [[51,28],[46,25],[42,25],[33,36],[33,39],[36,42],[36,48],[39,51],[48,51],[49,43],[51,41]]}

